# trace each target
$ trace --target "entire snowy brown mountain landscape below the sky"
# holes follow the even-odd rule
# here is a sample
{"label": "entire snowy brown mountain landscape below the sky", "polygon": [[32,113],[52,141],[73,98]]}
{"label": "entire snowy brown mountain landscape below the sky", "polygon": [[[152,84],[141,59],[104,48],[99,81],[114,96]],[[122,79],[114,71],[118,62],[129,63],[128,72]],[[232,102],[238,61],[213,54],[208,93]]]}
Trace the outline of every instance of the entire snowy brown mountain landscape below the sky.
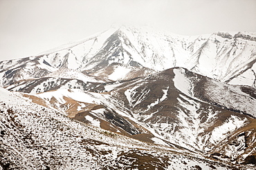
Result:
{"label": "entire snowy brown mountain landscape below the sky", "polygon": [[0,167],[254,169],[255,61],[254,33],[125,26],[1,61]]}

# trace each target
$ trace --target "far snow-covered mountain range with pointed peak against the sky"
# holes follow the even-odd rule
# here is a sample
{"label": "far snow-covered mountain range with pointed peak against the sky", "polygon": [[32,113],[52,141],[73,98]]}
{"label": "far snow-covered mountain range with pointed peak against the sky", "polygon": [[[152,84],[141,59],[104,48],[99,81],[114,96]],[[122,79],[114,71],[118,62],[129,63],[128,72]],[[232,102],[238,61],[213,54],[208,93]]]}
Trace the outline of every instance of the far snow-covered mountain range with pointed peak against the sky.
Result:
{"label": "far snow-covered mountain range with pointed peak against the sky", "polygon": [[[120,70],[135,78],[171,67],[185,67],[222,82],[255,87],[255,37],[248,32],[179,36],[152,28],[122,26],[40,56],[1,61],[1,83],[5,87],[65,69],[93,78],[100,75],[102,81],[117,81],[127,79],[113,76]],[[118,69],[109,67],[115,63],[119,64]],[[130,71],[134,69],[140,71],[132,75]]]}

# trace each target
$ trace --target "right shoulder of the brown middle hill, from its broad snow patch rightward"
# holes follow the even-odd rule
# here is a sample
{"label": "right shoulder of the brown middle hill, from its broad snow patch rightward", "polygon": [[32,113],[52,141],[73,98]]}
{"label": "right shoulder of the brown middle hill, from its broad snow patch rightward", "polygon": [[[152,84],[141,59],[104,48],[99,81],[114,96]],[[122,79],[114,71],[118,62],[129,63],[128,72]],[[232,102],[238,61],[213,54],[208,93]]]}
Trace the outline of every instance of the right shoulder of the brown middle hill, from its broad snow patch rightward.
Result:
{"label": "right shoulder of the brown middle hill, from its broad snow patch rightward", "polygon": [[183,68],[174,69],[174,85],[189,97],[217,107],[238,111],[256,117],[256,89],[228,85]]}

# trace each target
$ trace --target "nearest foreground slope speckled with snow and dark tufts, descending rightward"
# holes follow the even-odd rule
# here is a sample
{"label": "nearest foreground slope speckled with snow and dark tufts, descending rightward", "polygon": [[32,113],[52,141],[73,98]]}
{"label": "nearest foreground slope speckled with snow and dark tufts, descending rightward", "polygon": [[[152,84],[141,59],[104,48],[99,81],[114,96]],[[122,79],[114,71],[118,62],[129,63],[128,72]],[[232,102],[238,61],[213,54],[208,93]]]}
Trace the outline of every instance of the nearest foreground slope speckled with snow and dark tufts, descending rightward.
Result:
{"label": "nearest foreground slope speckled with snow and dark tufts, descending rightward", "polygon": [[0,91],[1,169],[236,168],[85,125]]}

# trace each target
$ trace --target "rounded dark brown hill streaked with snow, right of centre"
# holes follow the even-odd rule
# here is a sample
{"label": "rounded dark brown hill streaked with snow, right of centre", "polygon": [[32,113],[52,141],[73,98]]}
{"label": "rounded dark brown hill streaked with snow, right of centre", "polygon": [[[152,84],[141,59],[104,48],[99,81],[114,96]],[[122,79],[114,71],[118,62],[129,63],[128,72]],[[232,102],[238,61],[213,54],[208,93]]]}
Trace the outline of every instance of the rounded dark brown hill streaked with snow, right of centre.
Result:
{"label": "rounded dark brown hill streaked with snow, right of centre", "polygon": [[[242,112],[255,116],[256,108],[255,98],[250,96],[252,92],[246,93],[237,86],[210,78],[205,82],[205,78],[175,68],[123,83],[111,94],[122,100],[138,123],[154,136],[207,154],[230,134],[253,125],[252,116]],[[209,88],[201,86],[203,82]],[[227,92],[223,94],[225,88]],[[253,128],[250,127],[250,131],[254,131]],[[250,147],[245,147],[240,154],[246,155],[246,149]]]}

